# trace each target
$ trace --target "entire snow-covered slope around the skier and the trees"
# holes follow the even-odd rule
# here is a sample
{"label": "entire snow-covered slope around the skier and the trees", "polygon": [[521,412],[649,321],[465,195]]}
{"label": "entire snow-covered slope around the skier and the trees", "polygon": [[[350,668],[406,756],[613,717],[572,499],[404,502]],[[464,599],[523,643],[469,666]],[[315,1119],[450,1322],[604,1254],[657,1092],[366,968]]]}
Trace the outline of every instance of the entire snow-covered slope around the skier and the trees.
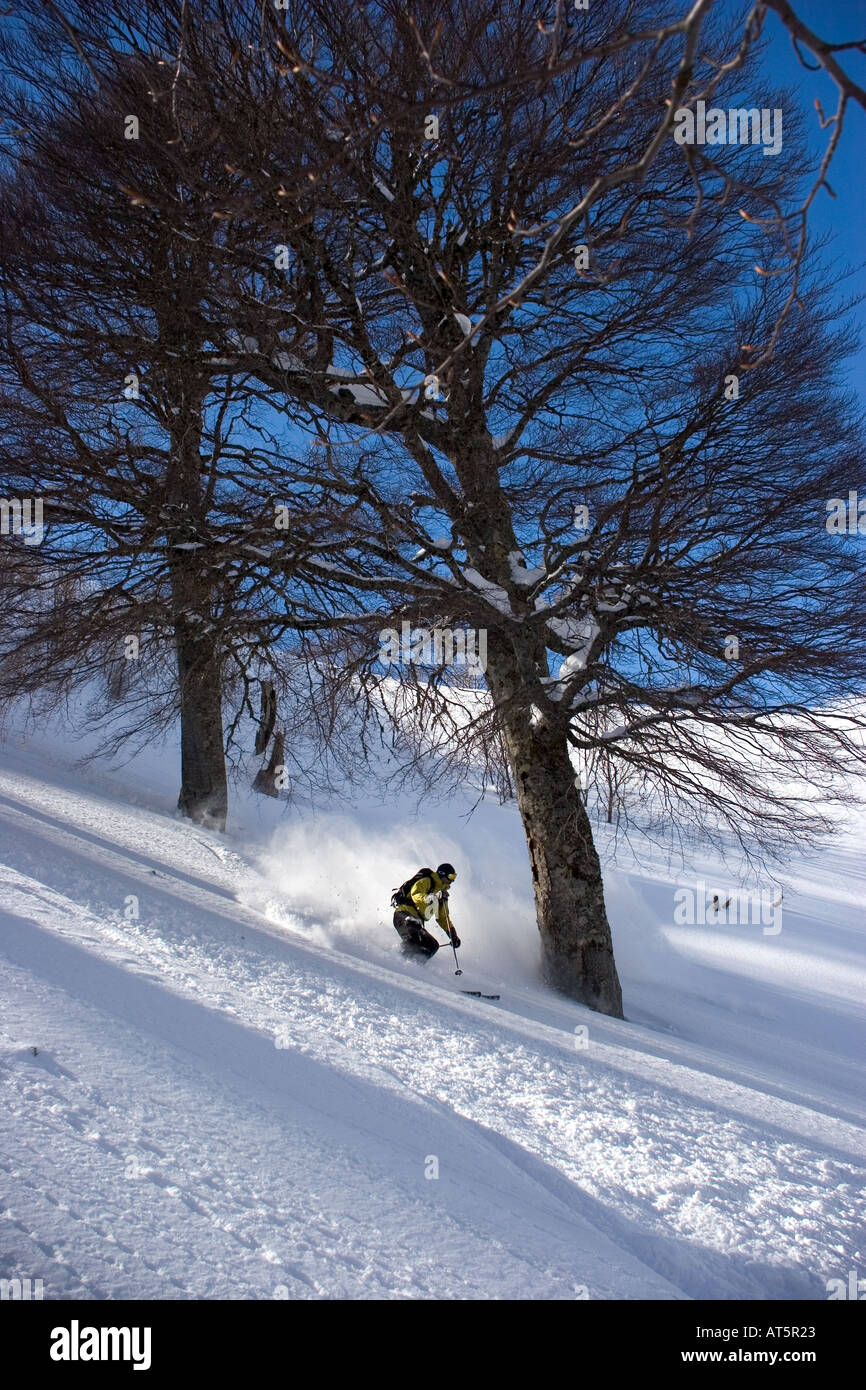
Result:
{"label": "entire snow-covered slope around the skier and the trees", "polygon": [[[0,746],[1,1277],[824,1300],[866,1273],[862,838],[788,865],[769,930],[678,923],[678,888],[731,884],[712,858],[620,855],[616,1022],[537,983],[513,808],[247,796],[221,838],[174,815],[172,752],[72,752]],[[441,859],[460,980],[389,920]]]}

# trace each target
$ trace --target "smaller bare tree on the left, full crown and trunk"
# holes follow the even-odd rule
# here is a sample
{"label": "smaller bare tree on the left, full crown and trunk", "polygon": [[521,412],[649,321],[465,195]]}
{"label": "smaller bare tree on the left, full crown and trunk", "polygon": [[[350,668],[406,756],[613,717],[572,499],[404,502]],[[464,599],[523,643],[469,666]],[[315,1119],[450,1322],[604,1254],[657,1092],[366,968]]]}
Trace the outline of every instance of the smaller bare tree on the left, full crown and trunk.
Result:
{"label": "smaller bare tree on the left, full crown and trunk", "polygon": [[[254,232],[215,215],[236,181],[189,82],[120,51],[95,90],[53,40],[43,18],[3,53],[17,136],[0,221],[0,467],[6,491],[38,499],[46,535],[4,612],[0,694],[65,694],[108,670],[139,724],[179,710],[179,809],[222,828],[227,738],[253,714],[275,644],[321,626],[321,571],[295,581],[339,518],[292,492],[285,418],[256,409],[217,348],[240,341],[236,300],[265,293],[267,277],[235,274]],[[275,460],[277,496],[263,485]]]}

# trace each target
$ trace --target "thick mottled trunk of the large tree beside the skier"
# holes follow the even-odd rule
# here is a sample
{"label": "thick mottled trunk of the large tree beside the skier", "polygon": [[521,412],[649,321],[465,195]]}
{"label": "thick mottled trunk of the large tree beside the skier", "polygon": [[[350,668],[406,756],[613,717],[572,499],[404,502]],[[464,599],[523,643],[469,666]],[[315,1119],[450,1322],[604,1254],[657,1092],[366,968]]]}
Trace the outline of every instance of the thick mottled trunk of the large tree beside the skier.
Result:
{"label": "thick mottled trunk of the large tree beside the skier", "polygon": [[605,910],[602,867],[575,785],[566,730],[544,716],[532,716],[523,702],[512,703],[521,684],[517,659],[496,639],[491,648],[487,681],[500,708],[500,728],[530,849],[544,979],[591,1009],[621,1019],[623,994]]}

